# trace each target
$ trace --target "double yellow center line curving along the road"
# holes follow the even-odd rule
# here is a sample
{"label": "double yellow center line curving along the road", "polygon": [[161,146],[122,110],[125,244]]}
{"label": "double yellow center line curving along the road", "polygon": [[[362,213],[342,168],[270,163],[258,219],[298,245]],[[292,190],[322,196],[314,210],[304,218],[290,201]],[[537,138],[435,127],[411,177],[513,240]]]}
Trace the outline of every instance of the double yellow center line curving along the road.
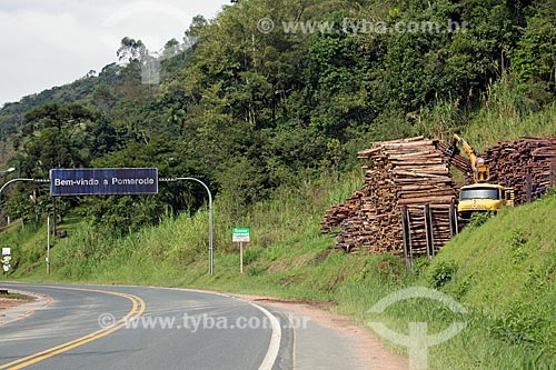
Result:
{"label": "double yellow center line curving along the road", "polygon": [[145,309],[146,309],[145,301],[140,297],[132,296],[132,294],[120,293],[120,292],[108,291],[108,290],[98,290],[98,289],[82,289],[82,288],[67,288],[67,287],[49,287],[49,288],[97,292],[97,293],[123,297],[123,298],[129,299],[132,302],[133,307],[131,308],[131,311],[129,311],[123,318],[116,321],[112,326],[110,326],[108,328],[97,330],[90,334],[80,337],[80,338],[71,340],[69,342],[49,348],[44,351],[37,352],[34,354],[21,358],[19,360],[14,360],[12,362],[6,363],[3,366],[0,366],[0,370],[1,369],[10,369],[10,370],[22,369],[22,368],[26,368],[26,367],[31,366],[33,363],[52,358],[57,354],[67,352],[73,348],[83,346],[83,344],[89,343],[91,341],[95,341],[97,339],[109,336],[112,332],[123,328],[126,326],[126,322],[128,320],[130,320],[131,318],[140,317],[145,312]]}

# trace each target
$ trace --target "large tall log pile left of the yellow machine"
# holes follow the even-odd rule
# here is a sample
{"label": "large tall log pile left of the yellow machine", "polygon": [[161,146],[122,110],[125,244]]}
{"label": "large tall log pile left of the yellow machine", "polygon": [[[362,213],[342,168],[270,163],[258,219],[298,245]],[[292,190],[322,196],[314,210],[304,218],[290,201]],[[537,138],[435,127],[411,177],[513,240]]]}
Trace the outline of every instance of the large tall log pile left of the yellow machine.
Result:
{"label": "large tall log pile left of the yellow machine", "polygon": [[[437,144],[418,137],[375,142],[358,153],[358,158],[369,161],[364,188],[346,203],[330,209],[321,223],[324,232],[340,228],[336,248],[403,253],[403,206],[415,214],[423,214],[425,204],[449,209],[456,199],[456,186]],[[419,238],[420,227],[414,227],[411,233]],[[439,214],[434,218],[433,229],[437,232],[435,248],[439,249],[449,239],[444,237],[449,233],[449,221]]]}

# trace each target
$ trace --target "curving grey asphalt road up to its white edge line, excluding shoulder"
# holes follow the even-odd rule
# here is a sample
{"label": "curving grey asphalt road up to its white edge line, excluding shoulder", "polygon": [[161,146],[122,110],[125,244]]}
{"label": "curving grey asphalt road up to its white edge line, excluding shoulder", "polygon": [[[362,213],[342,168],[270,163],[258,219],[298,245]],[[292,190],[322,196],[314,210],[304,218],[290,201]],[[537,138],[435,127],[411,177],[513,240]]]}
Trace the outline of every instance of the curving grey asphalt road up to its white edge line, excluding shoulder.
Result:
{"label": "curving grey asphalt road up to its white edge line, excluding shoulder", "polygon": [[208,292],[4,283],[53,301],[0,327],[0,369],[286,369],[285,318]]}

